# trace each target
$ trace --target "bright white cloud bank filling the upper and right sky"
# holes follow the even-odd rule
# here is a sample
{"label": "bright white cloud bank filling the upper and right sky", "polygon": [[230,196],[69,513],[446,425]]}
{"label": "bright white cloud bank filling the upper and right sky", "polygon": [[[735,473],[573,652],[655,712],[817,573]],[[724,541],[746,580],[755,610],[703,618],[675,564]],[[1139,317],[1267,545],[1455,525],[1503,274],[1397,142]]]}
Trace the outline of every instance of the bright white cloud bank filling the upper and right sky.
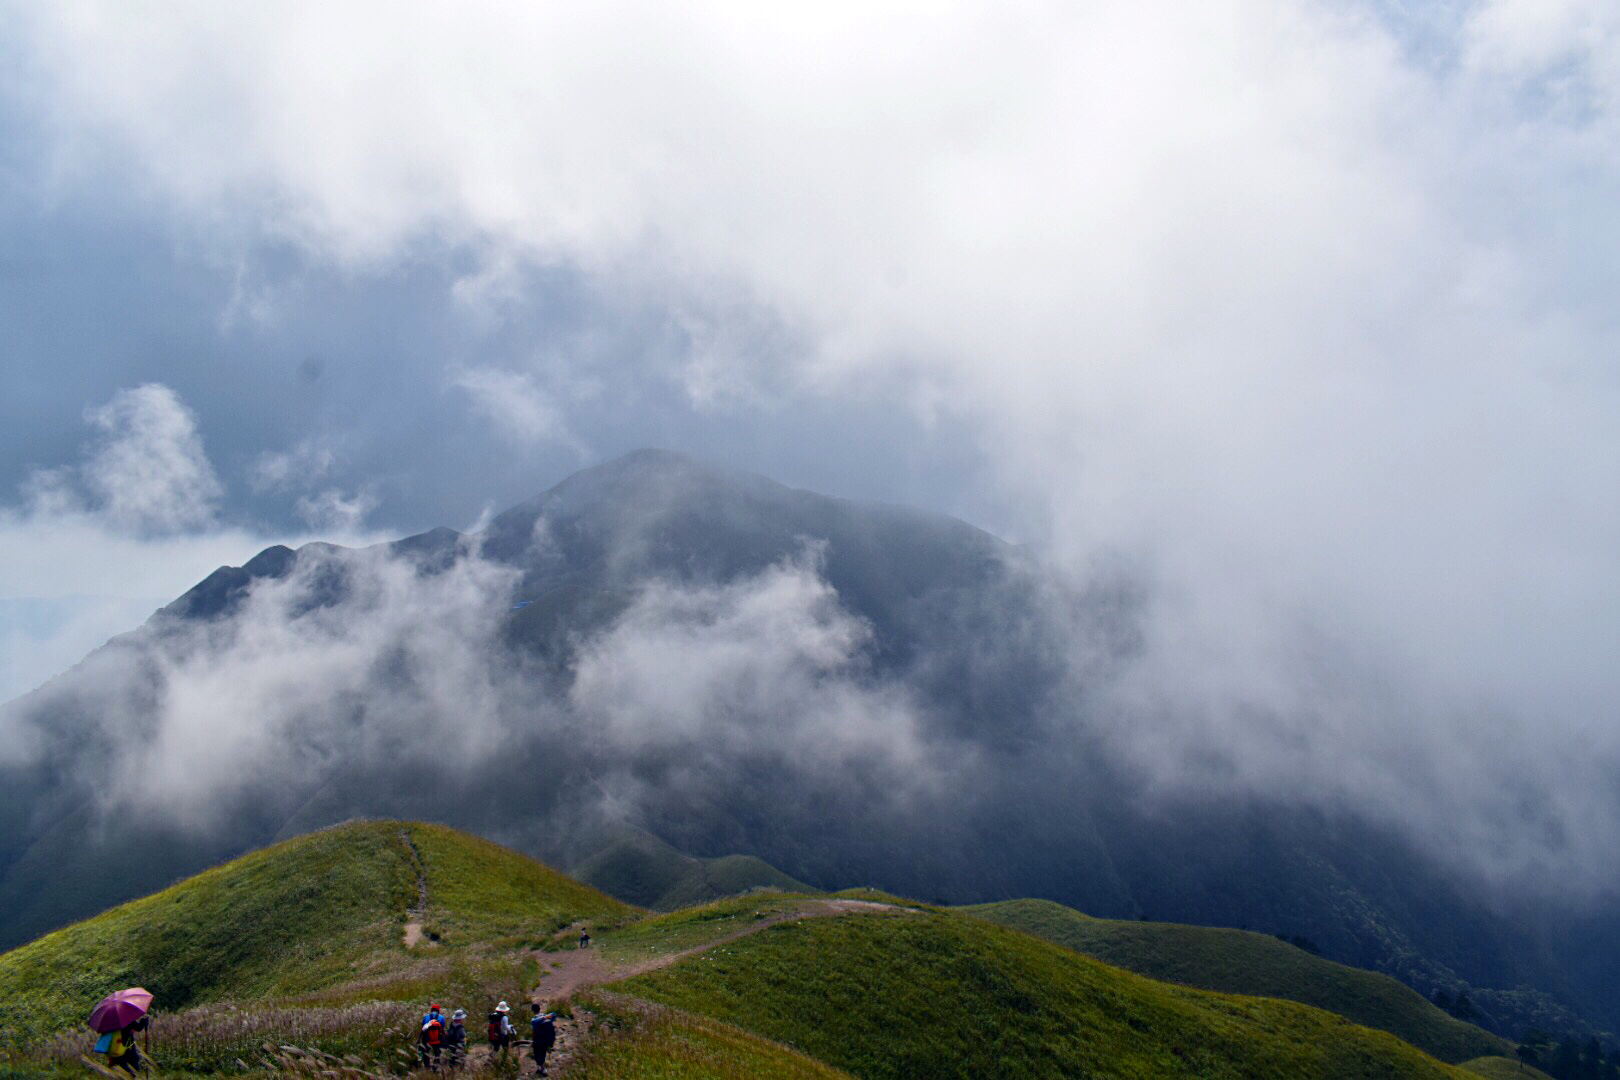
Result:
{"label": "bright white cloud bank filling the upper and right sky", "polygon": [[[1589,784],[1620,756],[1607,0],[1481,0],[1422,47],[1358,3],[1265,0],[13,26],[63,146],[202,220],[356,267],[424,236],[570,264],[795,343],[705,351],[690,385],[774,368],[969,421],[1025,533],[1150,575],[1126,699],[1149,756],[1187,750],[1173,776],[1209,745],[1260,785],[1406,776],[1489,832],[1531,763],[1580,789],[1571,844],[1617,837]],[[538,390],[467,389],[549,424]]]}

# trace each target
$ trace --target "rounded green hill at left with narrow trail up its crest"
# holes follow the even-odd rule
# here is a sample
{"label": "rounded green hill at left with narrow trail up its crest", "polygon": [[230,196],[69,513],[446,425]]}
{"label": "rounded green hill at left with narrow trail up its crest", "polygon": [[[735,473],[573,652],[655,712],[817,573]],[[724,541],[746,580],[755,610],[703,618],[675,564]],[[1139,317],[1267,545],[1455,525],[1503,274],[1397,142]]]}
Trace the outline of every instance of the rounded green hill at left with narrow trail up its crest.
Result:
{"label": "rounded green hill at left with narrow trail up its crest", "polygon": [[[0,955],[0,1043],[79,1025],[104,994],[146,986],[157,1006],[292,997],[408,968],[420,907],[447,942],[541,938],[625,905],[442,826],[355,823],[245,855]],[[444,950],[439,950],[444,954]]]}

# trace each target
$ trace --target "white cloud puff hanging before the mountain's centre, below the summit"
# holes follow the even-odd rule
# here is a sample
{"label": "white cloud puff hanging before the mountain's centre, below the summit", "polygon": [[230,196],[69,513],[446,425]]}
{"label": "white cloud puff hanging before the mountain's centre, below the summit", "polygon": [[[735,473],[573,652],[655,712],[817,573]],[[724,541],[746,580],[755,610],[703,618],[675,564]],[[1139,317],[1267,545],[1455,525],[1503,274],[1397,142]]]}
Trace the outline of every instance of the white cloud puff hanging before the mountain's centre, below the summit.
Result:
{"label": "white cloud puff hanging before the mountain's centre, below the summit", "polygon": [[651,583],[583,649],[569,698],[635,756],[713,748],[922,787],[935,776],[922,706],[867,669],[870,646],[812,551],[731,585]]}

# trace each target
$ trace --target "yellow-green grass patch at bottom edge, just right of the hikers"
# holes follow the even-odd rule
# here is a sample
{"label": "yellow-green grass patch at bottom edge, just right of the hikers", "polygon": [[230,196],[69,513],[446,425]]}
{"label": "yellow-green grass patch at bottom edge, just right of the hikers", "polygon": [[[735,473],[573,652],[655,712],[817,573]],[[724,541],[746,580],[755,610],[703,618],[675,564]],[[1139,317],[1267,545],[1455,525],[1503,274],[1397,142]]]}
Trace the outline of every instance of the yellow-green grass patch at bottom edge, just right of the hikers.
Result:
{"label": "yellow-green grass patch at bottom edge, just right of the hikers", "polygon": [[625,1014],[582,1002],[624,1025],[591,1043],[569,1070],[580,1080],[849,1080],[847,1072],[729,1023],[676,1009]]}

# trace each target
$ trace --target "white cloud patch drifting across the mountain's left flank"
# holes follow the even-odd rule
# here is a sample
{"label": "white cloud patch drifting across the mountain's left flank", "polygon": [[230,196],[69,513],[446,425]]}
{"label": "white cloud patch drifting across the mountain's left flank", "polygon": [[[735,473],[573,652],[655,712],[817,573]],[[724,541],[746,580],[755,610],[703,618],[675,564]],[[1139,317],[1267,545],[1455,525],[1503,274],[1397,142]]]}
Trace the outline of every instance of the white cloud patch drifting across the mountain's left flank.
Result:
{"label": "white cloud patch drifting across the mountain's left flank", "polygon": [[491,664],[514,580],[481,559],[424,576],[386,549],[306,547],[238,617],[149,640],[157,708],[136,695],[130,716],[102,717],[141,732],[130,767],[97,785],[102,805],[209,829],[243,800],[308,793],[342,767],[478,767],[499,748],[502,701],[517,699]]}

